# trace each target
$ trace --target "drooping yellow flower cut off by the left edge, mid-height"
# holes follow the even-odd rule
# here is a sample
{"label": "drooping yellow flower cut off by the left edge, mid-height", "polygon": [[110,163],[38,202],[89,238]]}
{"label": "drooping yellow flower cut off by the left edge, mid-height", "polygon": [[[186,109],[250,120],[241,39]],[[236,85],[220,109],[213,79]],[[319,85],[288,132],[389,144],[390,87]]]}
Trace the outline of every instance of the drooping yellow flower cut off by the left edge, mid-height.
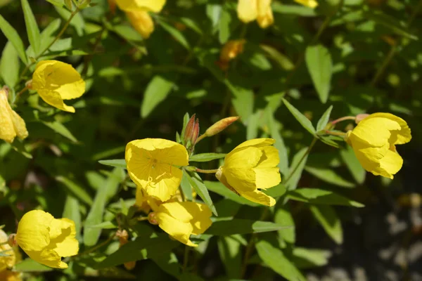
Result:
{"label": "drooping yellow flower cut off by the left edge, mid-height", "polygon": [[9,105],[7,96],[7,87],[0,89],[0,138],[13,143],[16,136],[21,139],[26,138],[28,131],[25,121]]}

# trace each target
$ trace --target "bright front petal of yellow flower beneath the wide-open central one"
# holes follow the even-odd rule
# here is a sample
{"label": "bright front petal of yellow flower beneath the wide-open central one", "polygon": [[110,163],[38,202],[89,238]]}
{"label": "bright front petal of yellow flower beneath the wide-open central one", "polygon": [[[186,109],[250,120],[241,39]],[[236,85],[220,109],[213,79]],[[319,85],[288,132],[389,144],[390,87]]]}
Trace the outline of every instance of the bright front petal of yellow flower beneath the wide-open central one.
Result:
{"label": "bright front petal of yellow flower beneath the wide-open central one", "polygon": [[175,240],[191,247],[198,246],[189,240],[193,230],[191,223],[179,221],[164,211],[158,212],[156,218],[158,226],[160,226],[162,230],[172,236]]}

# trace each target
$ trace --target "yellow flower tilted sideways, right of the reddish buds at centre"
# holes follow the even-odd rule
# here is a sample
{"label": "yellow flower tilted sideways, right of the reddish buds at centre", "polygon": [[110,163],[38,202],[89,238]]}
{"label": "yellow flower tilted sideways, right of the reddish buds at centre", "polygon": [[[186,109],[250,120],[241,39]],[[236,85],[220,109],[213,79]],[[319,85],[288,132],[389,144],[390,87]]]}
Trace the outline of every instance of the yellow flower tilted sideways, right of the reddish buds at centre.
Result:
{"label": "yellow flower tilted sideways, right of the reddish buds at centre", "polygon": [[255,138],[236,146],[219,167],[218,180],[246,199],[273,206],[276,200],[259,189],[272,188],[281,181],[279,151],[272,138]]}

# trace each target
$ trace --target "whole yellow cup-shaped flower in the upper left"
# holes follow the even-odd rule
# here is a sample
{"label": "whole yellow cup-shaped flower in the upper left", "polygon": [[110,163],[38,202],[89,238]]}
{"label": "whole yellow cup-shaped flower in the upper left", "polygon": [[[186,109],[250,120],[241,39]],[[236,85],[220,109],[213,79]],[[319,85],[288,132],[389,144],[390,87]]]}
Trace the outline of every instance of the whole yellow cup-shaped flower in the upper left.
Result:
{"label": "whole yellow cup-shaped flower in the upper left", "polygon": [[82,96],[85,82],[72,65],[58,60],[43,60],[37,63],[32,74],[31,89],[37,91],[49,105],[59,110],[75,112],[75,108],[65,105],[63,100]]}

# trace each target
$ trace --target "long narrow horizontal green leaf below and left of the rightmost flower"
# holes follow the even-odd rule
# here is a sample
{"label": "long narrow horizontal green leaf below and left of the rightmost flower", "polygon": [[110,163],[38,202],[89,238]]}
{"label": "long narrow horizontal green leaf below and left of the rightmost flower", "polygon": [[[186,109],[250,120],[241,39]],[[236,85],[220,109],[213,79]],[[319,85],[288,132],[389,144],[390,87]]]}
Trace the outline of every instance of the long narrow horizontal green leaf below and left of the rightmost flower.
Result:
{"label": "long narrow horizontal green leaf below and left of the rightmost flower", "polygon": [[364,204],[350,200],[330,190],[319,188],[299,188],[288,192],[291,200],[307,202],[312,204],[343,205],[352,207],[364,207]]}

